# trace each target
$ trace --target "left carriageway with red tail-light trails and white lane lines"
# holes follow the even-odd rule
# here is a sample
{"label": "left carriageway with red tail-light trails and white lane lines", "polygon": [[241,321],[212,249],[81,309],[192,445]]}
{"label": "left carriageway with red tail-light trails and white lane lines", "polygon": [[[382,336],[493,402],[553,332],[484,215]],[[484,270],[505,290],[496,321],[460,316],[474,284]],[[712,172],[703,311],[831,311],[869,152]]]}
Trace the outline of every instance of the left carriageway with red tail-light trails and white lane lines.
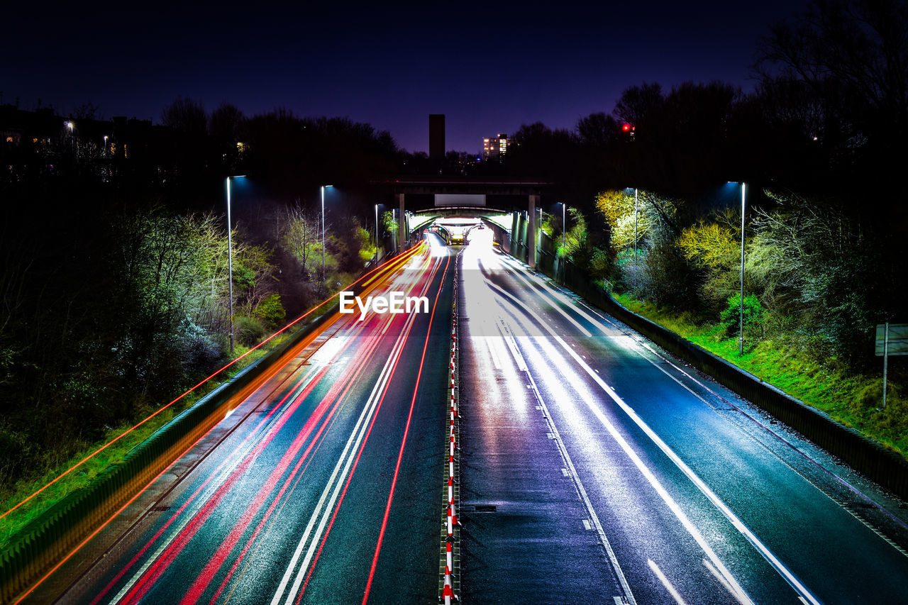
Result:
{"label": "left carriageway with red tail-light trails and white lane lines", "polygon": [[420,243],[370,294],[428,312],[338,313],[25,602],[437,600],[453,260]]}

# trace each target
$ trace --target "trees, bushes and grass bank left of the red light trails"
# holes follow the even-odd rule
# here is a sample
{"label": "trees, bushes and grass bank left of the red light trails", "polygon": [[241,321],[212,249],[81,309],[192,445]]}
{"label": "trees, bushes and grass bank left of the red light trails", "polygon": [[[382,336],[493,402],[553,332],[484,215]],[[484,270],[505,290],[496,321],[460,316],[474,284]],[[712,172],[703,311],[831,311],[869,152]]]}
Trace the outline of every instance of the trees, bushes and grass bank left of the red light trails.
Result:
{"label": "trees, bushes and grass bank left of the red light trails", "polygon": [[[300,205],[274,212],[281,213],[273,222],[280,230],[272,240],[253,243],[246,225],[234,225],[233,351],[223,215],[177,213],[158,203],[105,213],[94,223],[91,246],[62,261],[48,252],[54,237],[29,240],[6,226],[0,278],[3,512],[283,327],[284,296],[294,302],[292,319],[350,283],[375,254],[373,236],[356,218],[336,221],[325,238],[322,279],[316,215]],[[274,344],[0,519],[0,549]]]}

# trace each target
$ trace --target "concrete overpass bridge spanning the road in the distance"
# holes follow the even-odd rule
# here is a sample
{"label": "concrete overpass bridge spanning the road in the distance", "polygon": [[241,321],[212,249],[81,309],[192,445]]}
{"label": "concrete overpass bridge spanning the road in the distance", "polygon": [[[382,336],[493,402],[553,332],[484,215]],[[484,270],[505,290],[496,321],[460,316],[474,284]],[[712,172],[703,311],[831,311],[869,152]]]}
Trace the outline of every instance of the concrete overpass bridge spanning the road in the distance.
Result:
{"label": "concrete overpass bridge spanning the road in the distance", "polygon": [[[455,216],[477,217],[489,223],[496,229],[498,237],[505,243],[515,239],[515,231],[519,232],[519,241],[524,243],[535,242],[538,231],[538,217],[536,209],[539,198],[548,189],[551,183],[529,179],[505,178],[473,178],[473,177],[446,177],[446,176],[418,176],[398,179],[387,179],[376,183],[380,187],[390,190],[394,197],[394,204],[400,211],[398,228],[398,243],[400,246],[410,239],[412,233],[427,227],[439,218]],[[427,205],[430,196],[432,205],[429,207],[411,208],[407,210],[407,197],[421,198],[421,204]],[[512,200],[509,210],[506,208],[491,208],[486,205],[487,198],[496,200]],[[520,198],[526,200],[526,206],[520,203]],[[514,203],[517,201],[517,203]],[[498,204],[500,205],[500,204]],[[526,213],[521,210],[526,208]],[[515,212],[516,211],[516,212]],[[510,217],[508,218],[508,214]],[[500,231],[498,231],[500,230]],[[526,248],[527,263],[536,266],[536,246],[524,245]],[[515,251],[523,252],[523,251]],[[521,256],[523,254],[520,254]]]}

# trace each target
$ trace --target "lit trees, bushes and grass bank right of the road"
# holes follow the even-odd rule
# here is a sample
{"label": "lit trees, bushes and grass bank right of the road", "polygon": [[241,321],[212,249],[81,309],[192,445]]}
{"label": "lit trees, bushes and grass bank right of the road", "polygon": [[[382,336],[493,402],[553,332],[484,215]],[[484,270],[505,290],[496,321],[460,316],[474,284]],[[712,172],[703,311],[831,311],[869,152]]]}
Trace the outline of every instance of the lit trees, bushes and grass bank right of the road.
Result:
{"label": "lit trees, bushes and grass bank right of the road", "polygon": [[[771,190],[745,216],[744,354],[741,322],[740,185],[731,203],[712,204],[637,192],[606,191],[597,213],[609,248],[588,244],[576,216],[559,254],[604,283],[618,302],[709,352],[774,384],[885,446],[908,453],[903,358],[873,354],[875,325],[899,304],[897,259],[881,257],[884,233],[837,203]],[[732,191],[734,190],[734,191]]]}

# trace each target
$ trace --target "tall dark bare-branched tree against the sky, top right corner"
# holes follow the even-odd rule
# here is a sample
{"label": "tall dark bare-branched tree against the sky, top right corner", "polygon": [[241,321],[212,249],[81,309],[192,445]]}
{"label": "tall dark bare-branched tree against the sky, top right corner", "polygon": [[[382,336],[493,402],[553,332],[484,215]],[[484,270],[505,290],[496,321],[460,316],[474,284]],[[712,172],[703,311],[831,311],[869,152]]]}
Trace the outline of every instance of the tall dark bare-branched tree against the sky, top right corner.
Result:
{"label": "tall dark bare-branched tree against the sky, top right corner", "polygon": [[803,84],[801,105],[819,109],[811,112],[820,117],[815,135],[834,148],[834,170],[850,167],[864,182],[901,178],[908,149],[903,0],[815,0],[794,22],[773,26],[754,69],[774,89]]}

